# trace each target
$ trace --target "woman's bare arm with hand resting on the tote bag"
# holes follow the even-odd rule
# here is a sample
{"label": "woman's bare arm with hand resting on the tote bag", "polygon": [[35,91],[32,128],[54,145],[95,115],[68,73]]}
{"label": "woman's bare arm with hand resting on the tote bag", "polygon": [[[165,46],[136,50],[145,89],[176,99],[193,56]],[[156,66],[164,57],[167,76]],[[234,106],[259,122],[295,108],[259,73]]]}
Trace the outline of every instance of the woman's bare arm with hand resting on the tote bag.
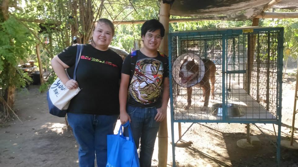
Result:
{"label": "woman's bare arm with hand resting on the tote bag", "polygon": [[58,58],[58,56],[55,56],[51,60],[51,64],[52,64],[52,68],[55,71],[57,77],[66,86],[66,88],[75,89],[79,86],[77,81],[68,78],[68,76],[65,72],[65,68],[69,68],[69,66],[67,66],[64,62],[62,62],[60,60],[60,58]]}

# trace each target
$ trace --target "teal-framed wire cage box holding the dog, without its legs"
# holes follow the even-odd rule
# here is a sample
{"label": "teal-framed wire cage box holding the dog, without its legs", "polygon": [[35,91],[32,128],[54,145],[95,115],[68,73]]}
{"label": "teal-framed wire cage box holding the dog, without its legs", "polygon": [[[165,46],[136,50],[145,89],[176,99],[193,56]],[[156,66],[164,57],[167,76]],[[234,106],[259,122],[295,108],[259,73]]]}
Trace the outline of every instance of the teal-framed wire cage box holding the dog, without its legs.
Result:
{"label": "teal-framed wire cage box holding the dog, without its legs", "polygon": [[[173,120],[278,122],[282,100],[282,28],[174,32],[169,34],[169,50]],[[197,57],[180,56],[188,54]],[[204,81],[187,86],[201,70],[191,61],[204,62]]]}

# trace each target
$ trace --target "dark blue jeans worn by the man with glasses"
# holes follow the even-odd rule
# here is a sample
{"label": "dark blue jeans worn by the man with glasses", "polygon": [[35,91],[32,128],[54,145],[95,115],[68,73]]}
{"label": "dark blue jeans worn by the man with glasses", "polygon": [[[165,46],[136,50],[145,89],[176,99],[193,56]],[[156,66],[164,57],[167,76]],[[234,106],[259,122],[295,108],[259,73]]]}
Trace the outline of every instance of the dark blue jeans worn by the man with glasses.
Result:
{"label": "dark blue jeans worn by the man with glasses", "polygon": [[[160,122],[154,120],[157,114],[156,107],[140,108],[128,105],[126,112],[131,118],[130,126],[137,148],[141,142],[140,165],[141,167],[151,167],[155,139],[160,125]],[[124,135],[128,136],[126,128],[124,128]]]}

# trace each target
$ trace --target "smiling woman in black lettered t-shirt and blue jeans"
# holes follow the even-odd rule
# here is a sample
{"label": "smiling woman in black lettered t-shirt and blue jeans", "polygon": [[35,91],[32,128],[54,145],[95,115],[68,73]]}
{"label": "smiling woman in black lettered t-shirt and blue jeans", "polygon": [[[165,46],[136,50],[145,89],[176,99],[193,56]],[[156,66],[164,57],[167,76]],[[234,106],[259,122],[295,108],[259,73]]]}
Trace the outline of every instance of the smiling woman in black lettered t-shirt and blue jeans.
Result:
{"label": "smiling woman in black lettered t-shirt and blue jeans", "polygon": [[67,119],[79,143],[80,167],[105,167],[107,160],[106,135],[113,134],[119,117],[119,79],[123,59],[108,48],[114,35],[114,25],[99,19],[93,30],[91,44],[85,44],[75,68],[76,45],[64,49],[52,59],[52,67],[68,89],[81,88],[70,101]]}

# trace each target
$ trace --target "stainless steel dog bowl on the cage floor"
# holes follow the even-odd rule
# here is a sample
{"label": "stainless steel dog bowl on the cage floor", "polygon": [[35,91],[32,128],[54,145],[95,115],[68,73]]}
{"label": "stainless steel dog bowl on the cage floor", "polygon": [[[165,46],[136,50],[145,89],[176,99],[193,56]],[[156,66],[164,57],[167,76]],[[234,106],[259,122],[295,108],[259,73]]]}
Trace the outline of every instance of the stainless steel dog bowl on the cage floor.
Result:
{"label": "stainless steel dog bowl on the cage floor", "polygon": [[[216,116],[223,116],[223,105],[222,103],[215,103],[212,105],[212,113]],[[228,103],[226,106],[226,113],[228,117],[241,117],[244,115],[239,105]]]}

